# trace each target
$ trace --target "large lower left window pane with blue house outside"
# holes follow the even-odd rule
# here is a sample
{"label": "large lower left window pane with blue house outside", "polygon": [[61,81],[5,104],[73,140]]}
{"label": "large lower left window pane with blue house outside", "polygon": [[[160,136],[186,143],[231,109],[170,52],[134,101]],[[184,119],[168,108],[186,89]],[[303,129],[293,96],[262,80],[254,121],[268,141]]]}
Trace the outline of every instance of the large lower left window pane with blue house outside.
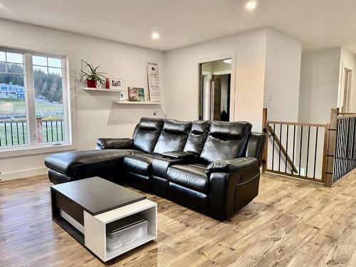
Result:
{"label": "large lower left window pane with blue house outside", "polygon": [[23,74],[0,73],[0,147],[28,144]]}

